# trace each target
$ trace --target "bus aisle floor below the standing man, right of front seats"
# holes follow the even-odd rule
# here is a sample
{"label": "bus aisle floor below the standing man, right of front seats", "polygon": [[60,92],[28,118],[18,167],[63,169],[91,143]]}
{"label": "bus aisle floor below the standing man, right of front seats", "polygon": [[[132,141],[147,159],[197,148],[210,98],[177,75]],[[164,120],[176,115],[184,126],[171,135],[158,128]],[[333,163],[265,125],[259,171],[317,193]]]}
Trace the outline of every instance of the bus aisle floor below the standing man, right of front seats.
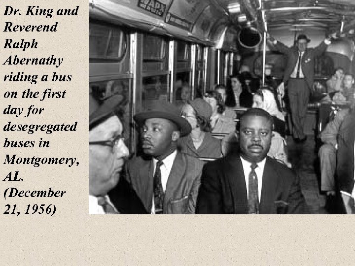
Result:
{"label": "bus aisle floor below the standing man, right of front seats", "polygon": [[318,148],[314,135],[307,135],[305,143],[295,143],[291,136],[287,139],[288,161],[300,176],[303,195],[311,214],[340,213],[342,200],[336,196],[326,200],[326,195],[320,192],[320,164]]}

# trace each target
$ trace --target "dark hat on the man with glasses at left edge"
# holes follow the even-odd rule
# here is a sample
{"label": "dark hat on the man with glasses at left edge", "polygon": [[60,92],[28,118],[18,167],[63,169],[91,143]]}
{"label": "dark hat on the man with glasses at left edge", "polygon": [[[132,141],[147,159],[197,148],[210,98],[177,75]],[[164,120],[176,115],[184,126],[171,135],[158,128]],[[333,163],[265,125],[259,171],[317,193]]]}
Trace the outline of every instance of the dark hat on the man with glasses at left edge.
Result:
{"label": "dark hat on the man with glasses at left edge", "polygon": [[122,100],[122,95],[115,94],[107,100],[100,102],[92,94],[89,94],[89,125],[112,113]]}

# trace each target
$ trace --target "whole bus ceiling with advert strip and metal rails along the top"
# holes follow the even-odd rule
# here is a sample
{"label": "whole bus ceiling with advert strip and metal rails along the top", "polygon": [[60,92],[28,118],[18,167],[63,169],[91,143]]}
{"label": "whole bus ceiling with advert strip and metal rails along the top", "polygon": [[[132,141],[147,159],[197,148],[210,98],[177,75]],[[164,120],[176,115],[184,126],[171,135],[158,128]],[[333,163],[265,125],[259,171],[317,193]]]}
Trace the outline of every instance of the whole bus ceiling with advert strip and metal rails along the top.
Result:
{"label": "whole bus ceiling with advert strip and metal rails along the top", "polygon": [[226,50],[236,49],[235,35],[248,23],[271,33],[349,35],[355,28],[355,0],[89,0],[89,6],[90,18]]}

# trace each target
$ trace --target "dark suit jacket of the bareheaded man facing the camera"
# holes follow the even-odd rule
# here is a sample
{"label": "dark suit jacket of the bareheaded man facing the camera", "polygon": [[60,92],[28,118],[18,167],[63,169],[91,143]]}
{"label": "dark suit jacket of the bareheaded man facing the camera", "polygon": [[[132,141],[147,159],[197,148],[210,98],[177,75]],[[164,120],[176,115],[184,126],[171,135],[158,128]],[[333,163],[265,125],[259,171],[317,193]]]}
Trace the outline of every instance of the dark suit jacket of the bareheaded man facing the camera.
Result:
{"label": "dark suit jacket of the bareheaded man facing the camera", "polygon": [[[204,166],[196,213],[248,214],[247,186],[238,154]],[[308,213],[297,175],[270,157],[264,168],[259,213]]]}

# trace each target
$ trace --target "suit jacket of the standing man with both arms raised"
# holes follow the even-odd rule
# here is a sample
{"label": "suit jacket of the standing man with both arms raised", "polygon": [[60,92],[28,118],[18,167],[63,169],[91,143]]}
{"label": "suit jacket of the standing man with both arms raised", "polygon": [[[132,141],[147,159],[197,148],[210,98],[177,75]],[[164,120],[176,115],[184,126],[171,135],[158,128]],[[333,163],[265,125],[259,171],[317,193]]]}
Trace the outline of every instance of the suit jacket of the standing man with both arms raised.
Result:
{"label": "suit jacket of the standing man with both arms raised", "polygon": [[[286,83],[295,68],[298,60],[298,49],[296,46],[288,48],[281,42],[277,42],[274,47],[287,55],[287,65],[284,70],[283,82]],[[313,88],[315,57],[320,56],[328,46],[322,41],[316,48],[307,48],[302,57],[302,72],[310,89]]]}

